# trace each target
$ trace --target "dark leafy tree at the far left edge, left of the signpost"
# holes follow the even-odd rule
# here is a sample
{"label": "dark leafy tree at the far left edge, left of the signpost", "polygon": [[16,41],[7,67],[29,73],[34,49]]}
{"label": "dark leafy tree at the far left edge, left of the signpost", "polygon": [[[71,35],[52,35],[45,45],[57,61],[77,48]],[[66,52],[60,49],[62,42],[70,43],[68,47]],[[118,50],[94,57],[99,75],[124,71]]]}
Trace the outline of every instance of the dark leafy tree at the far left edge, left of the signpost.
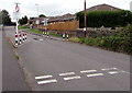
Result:
{"label": "dark leafy tree at the far left edge, left of the signpost", "polygon": [[7,10],[2,10],[2,24],[3,25],[10,25],[11,24],[11,18],[9,15],[9,12]]}

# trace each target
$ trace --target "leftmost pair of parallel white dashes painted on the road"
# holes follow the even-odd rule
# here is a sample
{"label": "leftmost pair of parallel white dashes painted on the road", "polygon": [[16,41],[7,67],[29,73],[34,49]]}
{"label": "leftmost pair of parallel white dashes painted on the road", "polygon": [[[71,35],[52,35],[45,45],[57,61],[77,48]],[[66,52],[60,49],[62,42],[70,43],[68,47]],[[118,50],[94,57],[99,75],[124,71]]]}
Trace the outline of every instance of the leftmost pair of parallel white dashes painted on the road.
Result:
{"label": "leftmost pair of parallel white dashes painted on the road", "polygon": [[[53,75],[40,75],[40,77],[35,77],[36,80],[48,79],[48,78],[53,78]],[[51,79],[51,80],[37,81],[37,84],[46,84],[46,83],[55,83],[55,82],[57,82],[56,79]]]}

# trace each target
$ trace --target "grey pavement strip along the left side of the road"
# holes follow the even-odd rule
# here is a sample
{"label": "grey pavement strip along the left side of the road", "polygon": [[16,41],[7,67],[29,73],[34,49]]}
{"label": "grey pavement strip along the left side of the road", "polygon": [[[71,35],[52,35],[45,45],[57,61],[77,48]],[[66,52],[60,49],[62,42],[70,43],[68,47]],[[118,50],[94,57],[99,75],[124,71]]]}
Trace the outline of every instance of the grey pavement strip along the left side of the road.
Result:
{"label": "grey pavement strip along the left side of the road", "polygon": [[[4,27],[8,31],[8,27]],[[18,59],[2,32],[2,91],[30,91]]]}

